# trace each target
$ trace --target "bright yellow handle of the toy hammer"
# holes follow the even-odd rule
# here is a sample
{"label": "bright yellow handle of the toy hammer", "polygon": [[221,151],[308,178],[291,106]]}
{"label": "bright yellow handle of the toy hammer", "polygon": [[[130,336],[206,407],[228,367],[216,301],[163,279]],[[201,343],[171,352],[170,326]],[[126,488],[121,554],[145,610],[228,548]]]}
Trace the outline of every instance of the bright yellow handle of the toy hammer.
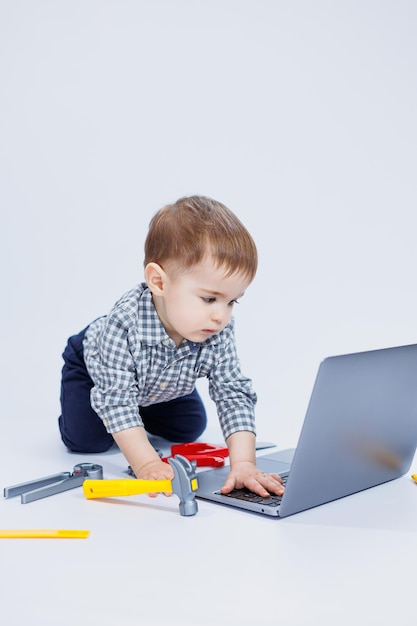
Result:
{"label": "bright yellow handle of the toy hammer", "polygon": [[172,491],[171,480],[140,480],[138,478],[119,478],[117,480],[93,480],[83,482],[86,498],[112,498],[117,496],[136,496],[141,493],[168,493]]}

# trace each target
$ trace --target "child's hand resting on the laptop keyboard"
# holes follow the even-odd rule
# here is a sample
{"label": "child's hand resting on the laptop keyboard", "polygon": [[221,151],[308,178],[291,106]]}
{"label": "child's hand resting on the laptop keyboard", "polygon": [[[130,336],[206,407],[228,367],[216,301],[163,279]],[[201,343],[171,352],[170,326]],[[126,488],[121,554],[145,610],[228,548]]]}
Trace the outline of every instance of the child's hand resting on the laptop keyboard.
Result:
{"label": "child's hand resting on the laptop keyboard", "polygon": [[278,496],[284,493],[282,479],[278,474],[265,474],[250,461],[235,463],[220,491],[230,493],[233,489],[242,489],[242,487],[246,487],[263,498],[267,498],[271,493]]}

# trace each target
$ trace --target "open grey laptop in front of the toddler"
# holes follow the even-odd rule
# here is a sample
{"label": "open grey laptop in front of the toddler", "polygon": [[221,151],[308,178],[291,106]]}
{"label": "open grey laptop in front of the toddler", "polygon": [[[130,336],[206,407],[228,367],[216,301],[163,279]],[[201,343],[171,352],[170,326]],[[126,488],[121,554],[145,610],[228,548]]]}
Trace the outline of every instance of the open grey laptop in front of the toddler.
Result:
{"label": "open grey laptop in front of the toddler", "polygon": [[196,497],[287,517],[404,475],[417,448],[417,345],[327,357],[319,366],[297,447],[257,457],[282,497],[222,495],[228,466],[201,471]]}

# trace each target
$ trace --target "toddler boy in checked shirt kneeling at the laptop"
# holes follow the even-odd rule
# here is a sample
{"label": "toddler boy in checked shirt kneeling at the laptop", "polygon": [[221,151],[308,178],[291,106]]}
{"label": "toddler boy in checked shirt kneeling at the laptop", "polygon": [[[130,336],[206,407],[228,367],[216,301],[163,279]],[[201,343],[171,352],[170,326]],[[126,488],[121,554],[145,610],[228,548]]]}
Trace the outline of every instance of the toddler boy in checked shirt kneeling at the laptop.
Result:
{"label": "toddler boy in checked shirt kneeling at the laptop", "polygon": [[152,218],[145,280],[108,315],[70,337],[64,351],[59,427],[74,452],[114,441],[137,478],[171,479],[147,432],[197,439],[206,412],[195,388],[206,377],[229,449],[222,488],[282,494],[277,474],[256,467],[256,395],[236,352],[233,307],[257,270],[255,243],[226,206],[181,198]]}

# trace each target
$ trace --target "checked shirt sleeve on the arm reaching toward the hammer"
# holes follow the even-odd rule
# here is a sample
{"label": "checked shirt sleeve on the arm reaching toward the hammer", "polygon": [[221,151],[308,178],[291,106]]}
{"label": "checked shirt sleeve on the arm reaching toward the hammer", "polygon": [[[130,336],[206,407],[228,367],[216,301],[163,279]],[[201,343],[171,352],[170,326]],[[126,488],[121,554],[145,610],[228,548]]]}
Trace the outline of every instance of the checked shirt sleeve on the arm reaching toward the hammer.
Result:
{"label": "checked shirt sleeve on the arm reaching toward the hammer", "polygon": [[94,382],[91,406],[109,433],[143,426],[139,415],[136,367],[132,356],[132,320],[122,308],[87,330],[84,355]]}

